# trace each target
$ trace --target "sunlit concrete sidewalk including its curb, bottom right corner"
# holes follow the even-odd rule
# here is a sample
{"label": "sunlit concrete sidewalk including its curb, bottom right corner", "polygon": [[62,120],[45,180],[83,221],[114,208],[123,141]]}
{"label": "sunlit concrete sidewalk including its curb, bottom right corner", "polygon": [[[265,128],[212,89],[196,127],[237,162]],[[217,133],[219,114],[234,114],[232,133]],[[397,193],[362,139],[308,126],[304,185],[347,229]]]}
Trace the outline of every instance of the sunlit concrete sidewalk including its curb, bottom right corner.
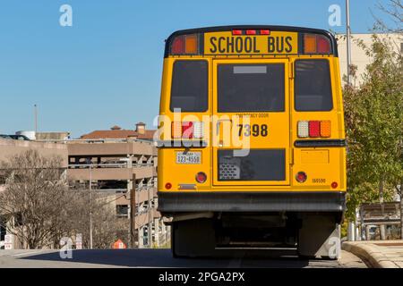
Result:
{"label": "sunlit concrete sidewalk including its curb, bottom right corner", "polygon": [[341,248],[373,268],[403,268],[403,240],[346,241]]}

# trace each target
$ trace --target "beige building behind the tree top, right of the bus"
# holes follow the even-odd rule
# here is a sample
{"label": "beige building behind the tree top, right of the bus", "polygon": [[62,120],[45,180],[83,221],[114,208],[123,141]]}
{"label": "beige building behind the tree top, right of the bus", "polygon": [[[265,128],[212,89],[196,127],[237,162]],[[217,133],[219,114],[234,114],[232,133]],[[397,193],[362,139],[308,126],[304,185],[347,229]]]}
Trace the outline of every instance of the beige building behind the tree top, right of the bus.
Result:
{"label": "beige building behind the tree top, right of the bus", "polygon": [[[399,34],[378,34],[380,38],[390,38],[396,51],[401,53],[403,50],[403,38]],[[347,75],[347,41],[346,35],[337,35],[339,46],[340,76],[341,79]],[[351,62],[356,65],[356,82],[355,86],[359,86],[362,82],[366,66],[371,63],[372,58],[365,54],[364,49],[358,45],[359,42],[365,46],[371,46],[373,43],[373,34],[352,34],[351,39]]]}

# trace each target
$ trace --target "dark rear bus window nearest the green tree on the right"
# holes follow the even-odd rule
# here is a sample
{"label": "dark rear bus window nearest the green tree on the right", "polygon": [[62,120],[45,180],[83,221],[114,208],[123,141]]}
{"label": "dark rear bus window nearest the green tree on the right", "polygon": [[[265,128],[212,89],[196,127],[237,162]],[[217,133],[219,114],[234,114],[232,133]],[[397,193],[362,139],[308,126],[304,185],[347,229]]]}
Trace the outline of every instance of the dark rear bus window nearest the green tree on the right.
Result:
{"label": "dark rear bus window nearest the green tree on the right", "polygon": [[333,109],[327,60],[296,61],[295,104],[296,111]]}

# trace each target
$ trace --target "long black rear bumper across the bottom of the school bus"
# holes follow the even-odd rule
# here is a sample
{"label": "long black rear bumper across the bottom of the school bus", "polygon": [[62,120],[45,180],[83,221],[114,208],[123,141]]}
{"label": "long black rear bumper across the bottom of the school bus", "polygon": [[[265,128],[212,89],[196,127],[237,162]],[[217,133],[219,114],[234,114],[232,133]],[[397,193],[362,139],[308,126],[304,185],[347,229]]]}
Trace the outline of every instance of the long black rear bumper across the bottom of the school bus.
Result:
{"label": "long black rear bumper across the bottom of the school bus", "polygon": [[159,192],[161,213],[344,212],[345,192]]}

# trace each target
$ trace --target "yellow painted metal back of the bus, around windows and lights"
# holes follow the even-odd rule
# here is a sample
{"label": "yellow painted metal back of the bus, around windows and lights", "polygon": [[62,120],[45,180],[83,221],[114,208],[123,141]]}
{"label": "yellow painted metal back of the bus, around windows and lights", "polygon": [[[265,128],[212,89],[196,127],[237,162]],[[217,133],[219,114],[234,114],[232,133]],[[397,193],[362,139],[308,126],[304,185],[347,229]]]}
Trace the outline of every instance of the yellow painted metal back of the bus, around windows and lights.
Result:
{"label": "yellow painted metal back of the bus, around windows and lights", "polygon": [[[190,148],[190,151],[202,152],[201,164],[187,165],[176,164],[176,152],[184,151],[184,148],[167,148],[159,149],[159,191],[176,191],[180,184],[195,184],[196,191],[345,191],[347,189],[346,175],[346,148],[345,147],[329,147],[329,148],[303,148],[294,147],[297,137],[298,121],[330,121],[331,136],[328,139],[345,139],[344,111],[341,94],[341,80],[339,78],[339,59],[333,56],[322,55],[281,55],[276,58],[269,55],[261,55],[257,57],[236,58],[236,55],[216,56],[214,59],[206,56],[180,56],[168,57],[164,60],[163,78],[161,87],[160,114],[167,116],[169,120],[174,120],[174,114],[169,110],[170,90],[172,81],[173,64],[176,60],[201,60],[204,59],[209,63],[209,109],[205,113],[183,113],[176,120],[189,121],[189,116],[194,120],[205,120],[204,128],[206,141],[209,147],[197,149]],[[333,95],[333,109],[330,112],[296,112],[294,106],[294,81],[295,81],[295,61],[298,59],[325,59],[330,63],[331,90]],[[214,115],[231,115],[217,114],[217,87],[214,80],[217,79],[216,66],[219,63],[287,63],[286,65],[286,115],[261,113],[249,114],[253,115],[252,122],[256,124],[268,123],[273,139],[268,143],[262,138],[256,138],[251,141],[251,147],[279,147],[284,146],[287,149],[287,181],[284,184],[268,184],[267,182],[256,182],[255,184],[244,185],[239,182],[230,184],[213,184],[213,177],[217,174],[213,171],[214,164],[217,163],[217,149],[212,147],[211,143],[217,140],[217,123],[218,119],[214,119]],[[289,64],[288,64],[289,63]],[[244,115],[241,115],[241,122]],[[193,116],[193,117],[192,117]],[[187,118],[186,118],[187,117]],[[204,117],[204,118],[203,118]],[[192,120],[190,120],[192,121]],[[231,129],[231,122],[219,122],[219,137],[222,138],[224,130]],[[160,139],[171,139],[170,124],[160,123],[163,130]],[[240,138],[242,139],[242,137]],[[284,140],[284,141],[283,141]],[[287,144],[286,144],[287,141]],[[227,148],[233,147],[231,141],[222,142]],[[271,144],[271,145],[270,145]],[[225,147],[224,147],[225,148]],[[326,149],[327,152],[324,152]],[[314,151],[314,152],[313,152]],[[312,153],[313,152],[313,153]],[[328,154],[328,160],[325,160],[325,153]],[[306,172],[308,180],[304,183],[298,183],[295,180],[297,172]],[[195,181],[197,172],[205,172],[208,180],[199,184]],[[172,189],[165,189],[165,184],[170,182]],[[338,183],[338,188],[330,187],[332,182]]]}

